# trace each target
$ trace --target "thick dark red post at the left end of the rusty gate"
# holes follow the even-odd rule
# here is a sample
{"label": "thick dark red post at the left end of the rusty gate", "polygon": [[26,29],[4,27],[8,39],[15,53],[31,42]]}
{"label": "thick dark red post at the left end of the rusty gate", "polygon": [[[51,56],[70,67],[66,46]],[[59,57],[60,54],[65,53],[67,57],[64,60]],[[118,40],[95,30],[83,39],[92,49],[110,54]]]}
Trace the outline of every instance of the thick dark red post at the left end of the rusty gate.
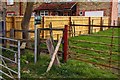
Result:
{"label": "thick dark red post at the left end of the rusty gate", "polygon": [[67,62],[67,58],[68,58],[68,25],[65,25],[64,34],[63,34],[63,40],[64,40],[63,61]]}

